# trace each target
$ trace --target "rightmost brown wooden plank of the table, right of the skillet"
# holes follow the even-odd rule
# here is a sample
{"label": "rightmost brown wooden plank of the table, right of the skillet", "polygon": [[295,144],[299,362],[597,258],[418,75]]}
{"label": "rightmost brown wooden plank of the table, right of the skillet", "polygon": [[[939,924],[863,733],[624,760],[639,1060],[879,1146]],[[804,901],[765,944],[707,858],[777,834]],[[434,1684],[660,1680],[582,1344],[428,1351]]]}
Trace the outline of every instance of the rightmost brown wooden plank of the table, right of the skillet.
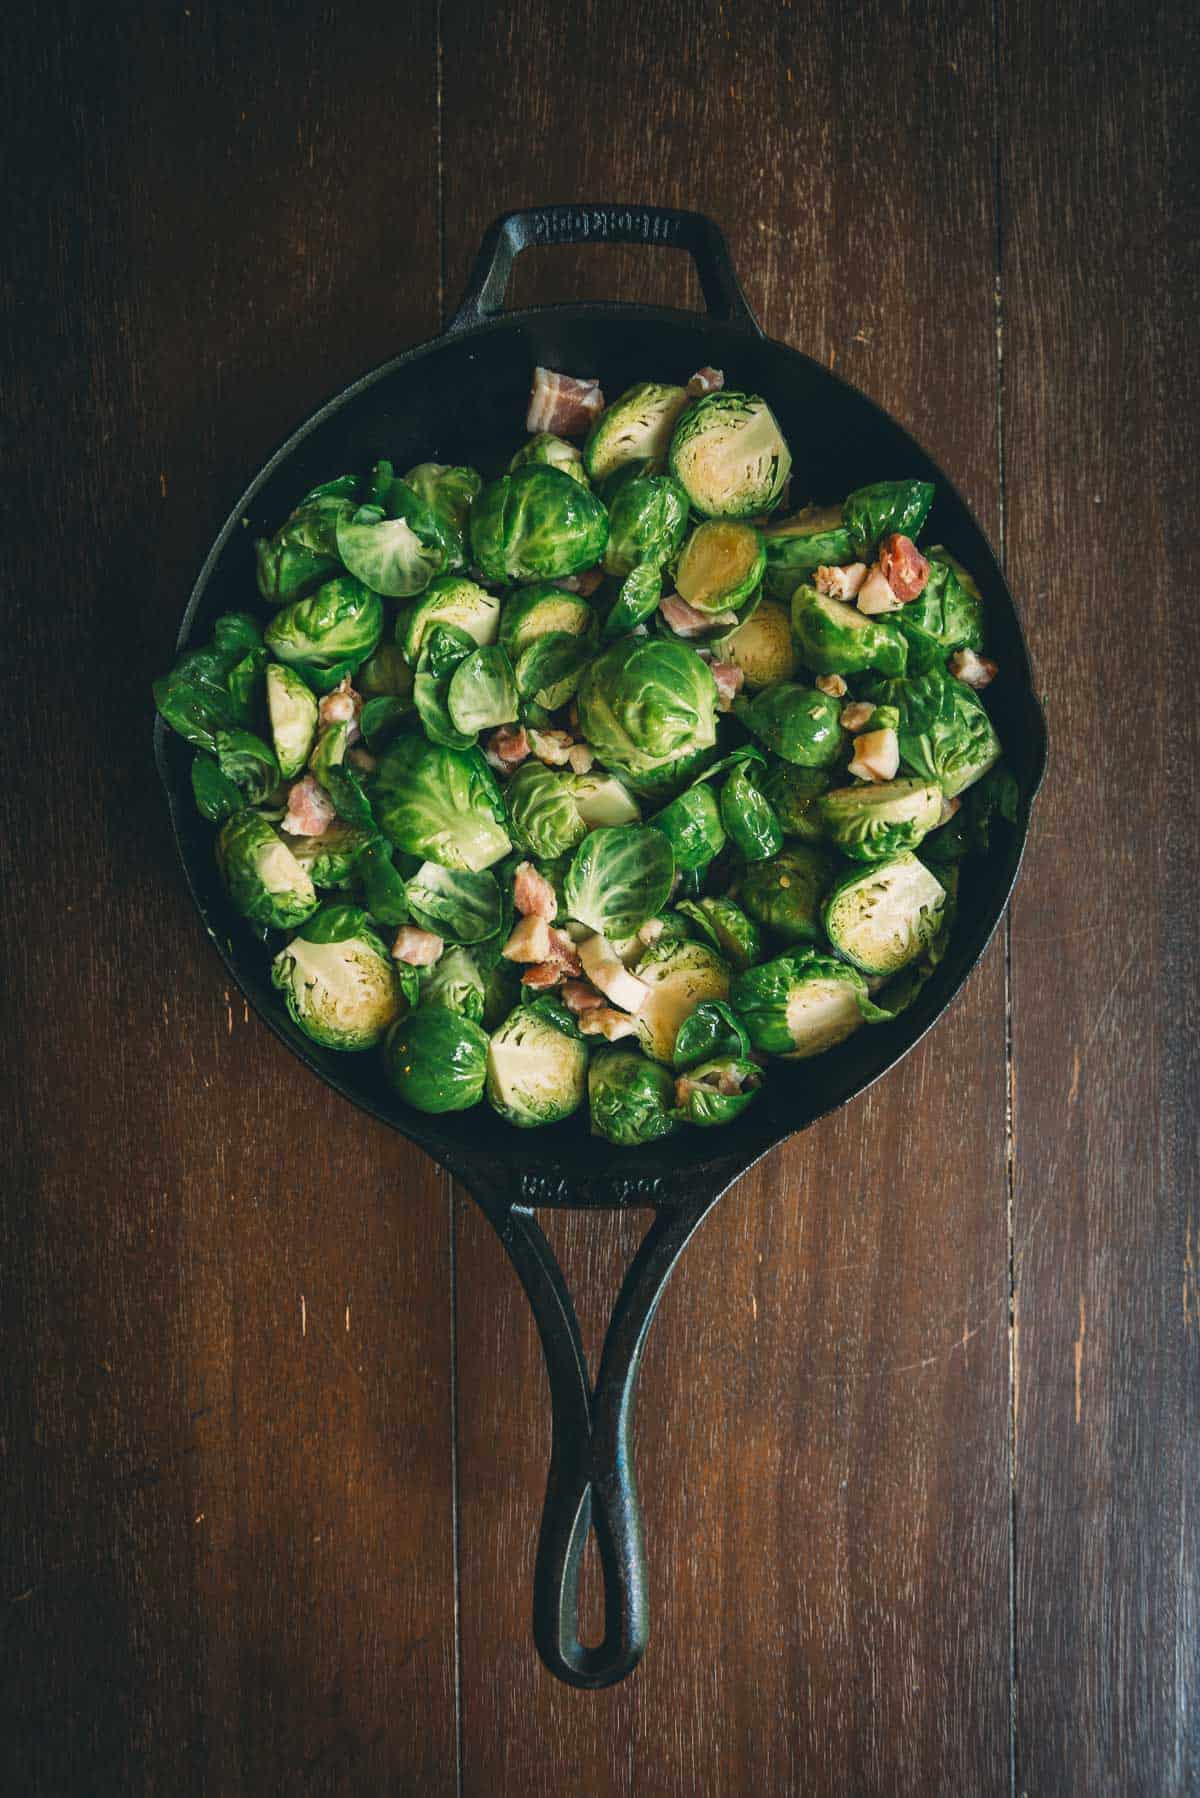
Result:
{"label": "rightmost brown wooden plank of the table, right of the skillet", "polygon": [[1200,32],[1002,18],[1007,541],[1052,694],[1013,913],[1016,1775],[1195,1793]]}

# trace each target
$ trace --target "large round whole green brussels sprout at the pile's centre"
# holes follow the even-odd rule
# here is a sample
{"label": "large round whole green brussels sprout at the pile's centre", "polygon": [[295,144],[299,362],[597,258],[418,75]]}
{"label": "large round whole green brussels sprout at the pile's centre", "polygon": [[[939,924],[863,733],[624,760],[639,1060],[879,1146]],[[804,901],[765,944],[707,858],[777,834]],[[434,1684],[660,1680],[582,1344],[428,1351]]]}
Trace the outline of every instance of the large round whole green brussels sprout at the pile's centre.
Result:
{"label": "large round whole green brussels sprout at the pile's centre", "polygon": [[597,757],[631,773],[716,743],[716,681],[685,644],[619,638],[585,671],[578,705]]}

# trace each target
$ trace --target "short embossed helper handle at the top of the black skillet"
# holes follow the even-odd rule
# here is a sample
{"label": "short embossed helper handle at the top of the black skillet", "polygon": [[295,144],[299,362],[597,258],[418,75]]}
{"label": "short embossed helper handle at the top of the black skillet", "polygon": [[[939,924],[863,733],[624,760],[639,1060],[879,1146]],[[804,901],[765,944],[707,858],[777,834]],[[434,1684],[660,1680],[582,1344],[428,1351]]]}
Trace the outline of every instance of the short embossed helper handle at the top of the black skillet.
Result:
{"label": "short embossed helper handle at the top of the black skillet", "polygon": [[527,207],[504,212],[484,232],[466,293],[446,331],[468,331],[484,324],[504,306],[513,263],[542,243],[646,243],[667,250],[687,250],[709,318],[747,325],[756,336],[761,327],[741,291],[729,255],[725,234],[703,212],[678,212],[673,207],[565,205]]}

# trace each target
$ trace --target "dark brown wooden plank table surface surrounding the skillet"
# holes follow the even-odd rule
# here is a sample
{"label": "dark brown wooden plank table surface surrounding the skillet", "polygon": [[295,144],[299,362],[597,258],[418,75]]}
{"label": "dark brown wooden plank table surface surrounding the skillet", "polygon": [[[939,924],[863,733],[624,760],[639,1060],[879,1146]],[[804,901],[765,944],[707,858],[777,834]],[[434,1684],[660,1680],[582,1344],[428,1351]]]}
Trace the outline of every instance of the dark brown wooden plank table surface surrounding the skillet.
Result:
{"label": "dark brown wooden plank table surface surrounding the skillet", "polygon": [[[1182,0],[11,29],[4,1793],[1200,1791],[1198,68]],[[529,1642],[516,1284],[227,989],[148,703],[266,451],[561,198],[711,212],[770,334],[934,448],[1052,732],[966,994],[667,1293],[655,1634],[601,1694]],[[696,300],[522,259],[574,295]],[[552,1226],[592,1332],[637,1230]]]}

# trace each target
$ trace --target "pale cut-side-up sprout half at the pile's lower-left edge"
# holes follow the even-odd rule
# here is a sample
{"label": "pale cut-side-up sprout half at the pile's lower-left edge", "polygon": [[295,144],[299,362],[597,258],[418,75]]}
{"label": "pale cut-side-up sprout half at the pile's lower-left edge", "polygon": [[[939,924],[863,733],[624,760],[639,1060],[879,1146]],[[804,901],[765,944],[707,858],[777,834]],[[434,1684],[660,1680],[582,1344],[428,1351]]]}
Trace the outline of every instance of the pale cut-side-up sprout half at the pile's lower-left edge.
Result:
{"label": "pale cut-side-up sprout half at the pile's lower-left edge", "polygon": [[396,964],[353,904],[313,913],[272,962],[272,985],[322,1048],[374,1048],[403,1005]]}

